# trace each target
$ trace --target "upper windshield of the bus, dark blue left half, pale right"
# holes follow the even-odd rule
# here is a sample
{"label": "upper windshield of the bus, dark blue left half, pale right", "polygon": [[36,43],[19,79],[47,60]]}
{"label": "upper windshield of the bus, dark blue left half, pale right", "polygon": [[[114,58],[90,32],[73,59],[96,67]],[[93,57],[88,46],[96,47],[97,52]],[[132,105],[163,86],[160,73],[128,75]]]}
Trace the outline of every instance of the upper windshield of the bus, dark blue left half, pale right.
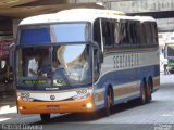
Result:
{"label": "upper windshield of the bus, dark blue left half, pale right", "polygon": [[88,23],[59,23],[20,27],[20,44],[48,44],[89,41]]}

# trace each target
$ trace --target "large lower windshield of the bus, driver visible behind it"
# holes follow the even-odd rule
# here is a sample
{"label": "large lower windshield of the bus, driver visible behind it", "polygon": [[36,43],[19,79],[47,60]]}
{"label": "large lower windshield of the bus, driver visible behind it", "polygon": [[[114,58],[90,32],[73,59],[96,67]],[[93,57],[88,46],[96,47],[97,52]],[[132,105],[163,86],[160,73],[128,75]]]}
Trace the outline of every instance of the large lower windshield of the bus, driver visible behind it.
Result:
{"label": "large lower windshield of the bus, driver visible behind it", "polygon": [[28,47],[17,51],[17,87],[66,89],[91,83],[88,44]]}

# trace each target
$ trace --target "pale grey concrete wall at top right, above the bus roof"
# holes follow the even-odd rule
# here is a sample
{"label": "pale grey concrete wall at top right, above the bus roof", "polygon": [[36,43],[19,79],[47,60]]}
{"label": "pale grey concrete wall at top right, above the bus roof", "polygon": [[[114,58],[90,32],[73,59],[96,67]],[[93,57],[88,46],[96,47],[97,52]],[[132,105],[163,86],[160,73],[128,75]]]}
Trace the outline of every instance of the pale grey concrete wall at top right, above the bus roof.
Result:
{"label": "pale grey concrete wall at top right, above the bus roof", "polygon": [[125,13],[159,12],[174,10],[174,0],[132,0],[108,1],[108,9],[123,11]]}

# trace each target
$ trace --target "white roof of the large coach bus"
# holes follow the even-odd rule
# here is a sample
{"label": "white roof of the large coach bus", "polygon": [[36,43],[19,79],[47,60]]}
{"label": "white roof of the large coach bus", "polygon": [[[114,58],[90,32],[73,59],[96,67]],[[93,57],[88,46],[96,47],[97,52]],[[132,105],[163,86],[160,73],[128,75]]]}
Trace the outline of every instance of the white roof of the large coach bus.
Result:
{"label": "white roof of the large coach bus", "polygon": [[154,21],[147,16],[126,16],[123,12],[101,9],[71,9],[52,14],[42,14],[24,18],[20,25],[45,24],[55,22],[94,22],[98,17],[133,20],[133,21]]}

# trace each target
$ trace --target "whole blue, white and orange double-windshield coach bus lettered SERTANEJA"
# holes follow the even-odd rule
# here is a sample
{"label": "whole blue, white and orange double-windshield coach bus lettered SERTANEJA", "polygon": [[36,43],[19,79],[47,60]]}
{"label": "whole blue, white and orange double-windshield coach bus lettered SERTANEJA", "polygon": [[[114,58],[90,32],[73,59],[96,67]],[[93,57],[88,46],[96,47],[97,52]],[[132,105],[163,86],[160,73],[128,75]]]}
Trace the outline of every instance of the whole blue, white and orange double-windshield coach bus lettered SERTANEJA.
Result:
{"label": "whole blue, white and orange double-windshield coach bus lettered SERTANEJA", "polygon": [[136,99],[149,103],[160,87],[158,47],[148,16],[71,9],[27,17],[14,54],[17,110],[48,120],[55,113],[102,109],[107,116]]}

